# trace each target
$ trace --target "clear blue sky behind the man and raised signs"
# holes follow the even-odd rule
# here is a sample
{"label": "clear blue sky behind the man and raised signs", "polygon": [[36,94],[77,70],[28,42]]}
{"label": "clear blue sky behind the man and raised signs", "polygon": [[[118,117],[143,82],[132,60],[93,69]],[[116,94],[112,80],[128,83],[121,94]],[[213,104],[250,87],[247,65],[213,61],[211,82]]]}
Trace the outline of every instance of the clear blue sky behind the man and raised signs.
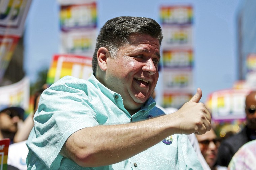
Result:
{"label": "clear blue sky behind the man and raised signs", "polygon": [[[238,78],[236,20],[241,0],[98,0],[98,24],[117,16],[141,16],[159,22],[160,5],[192,5],[194,10],[194,88],[211,92],[231,88]],[[24,69],[34,82],[59,53],[58,3],[33,1],[24,34]],[[157,87],[161,85],[161,74]],[[159,90],[161,94],[161,90]],[[159,99],[158,99],[159,100]]]}

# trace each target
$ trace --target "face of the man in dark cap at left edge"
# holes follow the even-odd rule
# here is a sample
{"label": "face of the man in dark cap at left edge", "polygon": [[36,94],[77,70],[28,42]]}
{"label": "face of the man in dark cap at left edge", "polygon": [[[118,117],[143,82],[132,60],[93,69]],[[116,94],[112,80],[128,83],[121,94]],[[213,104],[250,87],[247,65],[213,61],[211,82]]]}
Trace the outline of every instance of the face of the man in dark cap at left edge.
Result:
{"label": "face of the man in dark cap at left edge", "polygon": [[17,124],[19,122],[18,116],[10,116],[10,111],[4,111],[0,113],[0,130],[10,133],[15,133],[17,131]]}

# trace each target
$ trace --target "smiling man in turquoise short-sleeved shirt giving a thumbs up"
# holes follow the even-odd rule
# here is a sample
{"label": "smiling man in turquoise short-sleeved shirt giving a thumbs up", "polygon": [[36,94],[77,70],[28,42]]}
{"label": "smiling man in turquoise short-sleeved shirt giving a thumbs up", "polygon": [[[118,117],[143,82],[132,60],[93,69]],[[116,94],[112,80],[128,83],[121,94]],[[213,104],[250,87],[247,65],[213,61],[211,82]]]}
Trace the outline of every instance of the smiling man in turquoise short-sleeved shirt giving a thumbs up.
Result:
{"label": "smiling man in turquoise short-sleeved shirt giving a thumbs up", "polygon": [[66,76],[42,93],[27,141],[28,169],[201,169],[187,137],[176,135],[210,130],[201,89],[170,115],[150,97],[162,37],[153,19],[106,22],[93,75]]}

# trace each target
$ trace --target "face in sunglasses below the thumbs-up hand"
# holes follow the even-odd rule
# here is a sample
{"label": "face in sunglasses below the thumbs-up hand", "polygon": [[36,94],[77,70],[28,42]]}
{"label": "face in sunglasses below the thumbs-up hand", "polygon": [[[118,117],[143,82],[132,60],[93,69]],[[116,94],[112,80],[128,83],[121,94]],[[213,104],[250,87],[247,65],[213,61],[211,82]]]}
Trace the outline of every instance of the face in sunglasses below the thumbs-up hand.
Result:
{"label": "face in sunglasses below the thumbs-up hand", "polygon": [[216,140],[216,134],[213,129],[203,135],[196,135],[200,150],[207,164],[212,168],[217,160],[218,147],[220,142]]}

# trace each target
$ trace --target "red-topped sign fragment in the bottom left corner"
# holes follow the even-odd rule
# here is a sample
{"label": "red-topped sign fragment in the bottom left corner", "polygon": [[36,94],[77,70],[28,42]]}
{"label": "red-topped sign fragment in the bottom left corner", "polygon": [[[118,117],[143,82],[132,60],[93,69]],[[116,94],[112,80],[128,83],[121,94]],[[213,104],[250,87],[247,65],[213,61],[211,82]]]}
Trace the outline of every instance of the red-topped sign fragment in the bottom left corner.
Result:
{"label": "red-topped sign fragment in the bottom left corner", "polygon": [[0,139],[0,170],[7,170],[10,139]]}

